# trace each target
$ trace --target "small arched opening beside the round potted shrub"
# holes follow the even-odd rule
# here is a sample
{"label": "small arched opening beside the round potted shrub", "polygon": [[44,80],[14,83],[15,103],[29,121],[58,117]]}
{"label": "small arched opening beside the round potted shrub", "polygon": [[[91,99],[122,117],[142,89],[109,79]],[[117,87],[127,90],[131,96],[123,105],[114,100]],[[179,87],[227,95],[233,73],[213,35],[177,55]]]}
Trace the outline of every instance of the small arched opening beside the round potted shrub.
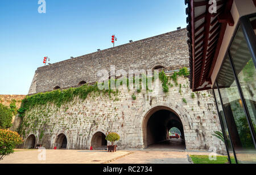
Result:
{"label": "small arched opening beside the round potted shrub", "polygon": [[92,141],[90,145],[93,147],[94,150],[106,150],[106,146],[108,142],[105,138],[106,138],[106,135],[98,131],[92,136]]}

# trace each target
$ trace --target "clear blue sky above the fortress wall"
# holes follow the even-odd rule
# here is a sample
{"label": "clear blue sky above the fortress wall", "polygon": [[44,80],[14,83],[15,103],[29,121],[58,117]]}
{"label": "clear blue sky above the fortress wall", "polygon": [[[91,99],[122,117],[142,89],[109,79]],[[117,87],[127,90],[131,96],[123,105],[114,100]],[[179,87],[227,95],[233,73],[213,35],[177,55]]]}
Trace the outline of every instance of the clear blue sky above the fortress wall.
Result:
{"label": "clear blue sky above the fortress wall", "polygon": [[0,1],[0,94],[26,95],[43,57],[51,63],[186,27],[183,0]]}

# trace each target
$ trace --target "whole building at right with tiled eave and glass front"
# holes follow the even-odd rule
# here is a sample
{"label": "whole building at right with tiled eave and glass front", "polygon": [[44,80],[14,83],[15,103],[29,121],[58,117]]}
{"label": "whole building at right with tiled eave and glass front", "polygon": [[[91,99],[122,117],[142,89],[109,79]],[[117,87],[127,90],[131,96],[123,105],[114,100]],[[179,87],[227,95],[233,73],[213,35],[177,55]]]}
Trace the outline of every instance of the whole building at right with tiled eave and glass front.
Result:
{"label": "whole building at right with tiled eave and glass front", "polygon": [[213,89],[229,162],[256,163],[256,1],[185,4],[191,89]]}

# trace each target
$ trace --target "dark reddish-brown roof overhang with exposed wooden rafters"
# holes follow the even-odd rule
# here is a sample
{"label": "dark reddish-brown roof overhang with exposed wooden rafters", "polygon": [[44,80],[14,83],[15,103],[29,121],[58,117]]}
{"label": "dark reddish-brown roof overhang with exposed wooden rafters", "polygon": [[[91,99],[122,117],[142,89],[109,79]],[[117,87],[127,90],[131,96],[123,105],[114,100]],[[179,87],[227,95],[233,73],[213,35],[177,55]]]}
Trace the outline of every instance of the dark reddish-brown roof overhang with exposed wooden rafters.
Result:
{"label": "dark reddish-brown roof overhang with exposed wooden rafters", "polygon": [[216,13],[210,13],[208,0],[185,0],[188,31],[190,88],[211,88],[210,76],[215,66],[227,24],[234,25],[230,13],[233,0],[217,0]]}

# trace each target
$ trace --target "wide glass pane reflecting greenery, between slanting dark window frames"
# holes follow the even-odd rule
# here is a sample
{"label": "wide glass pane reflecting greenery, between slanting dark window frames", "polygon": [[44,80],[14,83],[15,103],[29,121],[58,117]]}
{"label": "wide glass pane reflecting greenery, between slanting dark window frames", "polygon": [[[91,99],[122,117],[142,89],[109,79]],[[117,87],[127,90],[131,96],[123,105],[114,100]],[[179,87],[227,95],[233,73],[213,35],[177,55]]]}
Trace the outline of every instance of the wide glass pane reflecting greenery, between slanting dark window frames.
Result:
{"label": "wide glass pane reflecting greenery, between slanting dark window frames", "polygon": [[217,82],[238,163],[256,163],[253,139],[228,56],[224,58]]}

